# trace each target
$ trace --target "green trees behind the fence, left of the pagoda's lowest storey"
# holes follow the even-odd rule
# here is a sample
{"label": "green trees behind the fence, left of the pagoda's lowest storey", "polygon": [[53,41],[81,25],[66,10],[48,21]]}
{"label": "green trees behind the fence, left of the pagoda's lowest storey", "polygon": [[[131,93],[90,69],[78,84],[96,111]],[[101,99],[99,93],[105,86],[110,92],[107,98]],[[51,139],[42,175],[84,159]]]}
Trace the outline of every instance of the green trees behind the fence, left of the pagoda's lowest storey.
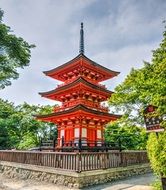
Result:
{"label": "green trees behind the fence, left of the pagoda's lowest storey", "polygon": [[29,149],[37,146],[40,138],[53,139],[56,129],[52,123],[37,121],[35,114],[52,112],[52,106],[13,103],[0,99],[0,149]]}

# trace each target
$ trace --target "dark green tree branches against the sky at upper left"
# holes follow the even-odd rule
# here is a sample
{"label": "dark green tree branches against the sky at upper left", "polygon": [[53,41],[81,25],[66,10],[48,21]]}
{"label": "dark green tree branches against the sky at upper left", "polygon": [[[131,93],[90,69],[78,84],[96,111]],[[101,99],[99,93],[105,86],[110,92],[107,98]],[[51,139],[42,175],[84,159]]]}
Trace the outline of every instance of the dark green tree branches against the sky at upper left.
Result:
{"label": "dark green tree branches against the sky at upper left", "polygon": [[35,47],[12,34],[2,18],[3,11],[0,9],[0,89],[11,85],[11,80],[19,77],[18,68],[29,65],[31,48]]}

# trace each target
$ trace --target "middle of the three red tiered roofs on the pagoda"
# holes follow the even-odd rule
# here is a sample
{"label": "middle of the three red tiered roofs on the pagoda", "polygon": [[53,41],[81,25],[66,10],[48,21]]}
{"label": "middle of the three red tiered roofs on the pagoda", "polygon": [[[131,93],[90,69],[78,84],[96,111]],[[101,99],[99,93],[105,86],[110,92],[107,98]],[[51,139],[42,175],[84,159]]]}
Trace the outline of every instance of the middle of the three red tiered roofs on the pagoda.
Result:
{"label": "middle of the three red tiered roofs on the pagoda", "polygon": [[64,90],[66,91],[66,89],[69,90],[70,88],[72,88],[72,87],[74,87],[74,86],[76,86],[76,85],[78,85],[80,83],[87,85],[91,89],[95,89],[95,90],[98,90],[100,92],[104,92],[104,93],[106,93],[108,95],[111,95],[113,93],[112,91],[107,90],[106,88],[104,88],[102,86],[98,86],[98,85],[95,85],[93,83],[88,82],[83,77],[78,77],[76,80],[74,80],[71,83],[68,83],[68,84],[66,84],[64,86],[60,86],[60,87],[58,87],[58,88],[56,88],[54,90],[48,91],[48,92],[40,92],[39,94],[41,96],[43,96],[43,97],[51,98],[51,95],[53,95],[53,94],[55,95],[55,94],[57,94],[59,92],[62,92]]}

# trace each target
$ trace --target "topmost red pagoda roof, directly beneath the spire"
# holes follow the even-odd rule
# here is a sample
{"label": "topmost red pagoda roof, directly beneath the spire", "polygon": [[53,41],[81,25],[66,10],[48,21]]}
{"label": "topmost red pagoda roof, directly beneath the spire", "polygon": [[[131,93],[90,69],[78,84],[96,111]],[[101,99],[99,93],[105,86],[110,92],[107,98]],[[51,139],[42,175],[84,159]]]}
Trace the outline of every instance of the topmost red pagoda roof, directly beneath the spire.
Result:
{"label": "topmost red pagoda roof, directly beneath the spire", "polygon": [[[83,62],[82,60],[85,60]],[[54,68],[49,71],[44,71],[43,73],[47,76],[50,76],[52,78],[55,78],[57,80],[65,81],[63,77],[60,77],[59,74],[62,72],[65,72],[67,69],[73,70],[76,66],[90,66],[94,69],[94,71],[98,71],[100,73],[103,73],[105,75],[105,78],[102,78],[99,80],[99,82],[107,80],[109,78],[112,78],[114,76],[117,76],[120,72],[110,70],[94,61],[86,57],[84,54],[80,53],[78,56],[76,56],[74,59]]]}

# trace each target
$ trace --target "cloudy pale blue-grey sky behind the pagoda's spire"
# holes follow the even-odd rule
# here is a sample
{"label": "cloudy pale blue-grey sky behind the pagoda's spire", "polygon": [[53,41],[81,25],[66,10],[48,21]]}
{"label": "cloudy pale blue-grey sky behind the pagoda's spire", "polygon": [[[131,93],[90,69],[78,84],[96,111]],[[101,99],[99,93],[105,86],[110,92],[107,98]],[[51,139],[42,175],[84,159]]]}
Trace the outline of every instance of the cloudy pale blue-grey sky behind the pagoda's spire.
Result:
{"label": "cloudy pale blue-grey sky behind the pagoda's spire", "polygon": [[30,66],[0,90],[0,98],[16,105],[53,105],[38,92],[59,82],[43,74],[79,54],[80,23],[84,23],[85,55],[121,72],[104,84],[109,90],[124,81],[131,68],[150,61],[162,40],[165,0],[0,0],[3,21],[16,36],[35,44]]}

